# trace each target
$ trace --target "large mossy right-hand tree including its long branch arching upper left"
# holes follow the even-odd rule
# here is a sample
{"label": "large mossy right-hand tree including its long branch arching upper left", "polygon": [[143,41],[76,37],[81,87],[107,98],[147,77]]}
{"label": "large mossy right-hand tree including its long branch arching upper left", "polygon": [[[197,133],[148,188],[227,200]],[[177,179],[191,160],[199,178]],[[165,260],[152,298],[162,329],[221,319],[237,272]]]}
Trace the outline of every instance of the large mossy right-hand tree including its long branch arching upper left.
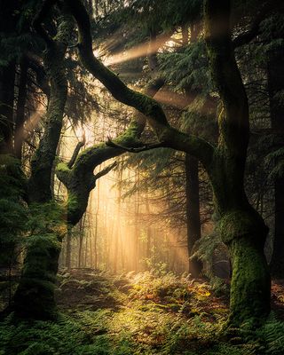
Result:
{"label": "large mossy right-hand tree including its long branch arching upper left", "polygon": [[216,147],[172,128],[154,99],[131,91],[104,67],[93,55],[90,21],[83,5],[78,1],[67,4],[78,26],[77,46],[83,66],[106,86],[114,99],[146,115],[160,141],[157,145],[192,154],[207,170],[220,218],[219,232],[233,259],[229,323],[256,323],[270,311],[270,276],[263,250],[267,227],[248,203],[243,186],[249,136],[248,102],[233,54],[229,1],[205,2],[210,68],[224,106],[218,119],[220,135]]}

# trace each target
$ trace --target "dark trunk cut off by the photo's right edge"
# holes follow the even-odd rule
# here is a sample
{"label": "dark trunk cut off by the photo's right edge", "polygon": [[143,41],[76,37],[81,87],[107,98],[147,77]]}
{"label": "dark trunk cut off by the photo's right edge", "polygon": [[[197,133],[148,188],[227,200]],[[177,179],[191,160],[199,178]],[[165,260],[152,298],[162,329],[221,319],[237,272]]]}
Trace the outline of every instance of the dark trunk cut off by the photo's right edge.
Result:
{"label": "dark trunk cut off by the photo's right edge", "polygon": [[[284,103],[277,95],[284,90],[284,46],[269,53],[268,57],[268,92],[270,99],[270,113],[272,130],[275,131],[275,150],[284,146]],[[283,158],[282,158],[283,159]],[[275,160],[275,164],[280,158]],[[274,243],[271,261],[272,276],[283,278],[284,275],[284,175],[274,179]]]}

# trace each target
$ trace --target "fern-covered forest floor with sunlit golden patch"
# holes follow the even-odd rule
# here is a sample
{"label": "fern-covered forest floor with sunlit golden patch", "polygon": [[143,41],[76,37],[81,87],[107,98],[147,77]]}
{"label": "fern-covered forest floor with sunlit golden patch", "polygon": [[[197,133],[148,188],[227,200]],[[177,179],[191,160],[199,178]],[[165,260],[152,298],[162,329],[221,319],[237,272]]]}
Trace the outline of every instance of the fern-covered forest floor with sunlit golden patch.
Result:
{"label": "fern-covered forest floor with sunlit golden patch", "polygon": [[171,273],[59,273],[57,321],[0,325],[0,355],[283,355],[284,283],[272,285],[272,315],[256,331],[224,335],[229,285]]}

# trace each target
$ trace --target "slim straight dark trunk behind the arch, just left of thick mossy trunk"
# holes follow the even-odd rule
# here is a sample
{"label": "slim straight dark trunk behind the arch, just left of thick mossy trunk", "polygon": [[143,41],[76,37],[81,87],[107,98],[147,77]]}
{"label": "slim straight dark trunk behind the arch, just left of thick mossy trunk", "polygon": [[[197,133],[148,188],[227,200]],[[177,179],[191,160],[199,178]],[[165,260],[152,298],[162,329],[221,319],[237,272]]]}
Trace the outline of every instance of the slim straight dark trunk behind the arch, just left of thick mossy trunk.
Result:
{"label": "slim straight dark trunk behind the arch, just left of thick mossy trunk", "polygon": [[188,272],[199,277],[202,263],[197,258],[190,259],[194,243],[201,238],[198,160],[189,154],[185,154],[185,179]]}

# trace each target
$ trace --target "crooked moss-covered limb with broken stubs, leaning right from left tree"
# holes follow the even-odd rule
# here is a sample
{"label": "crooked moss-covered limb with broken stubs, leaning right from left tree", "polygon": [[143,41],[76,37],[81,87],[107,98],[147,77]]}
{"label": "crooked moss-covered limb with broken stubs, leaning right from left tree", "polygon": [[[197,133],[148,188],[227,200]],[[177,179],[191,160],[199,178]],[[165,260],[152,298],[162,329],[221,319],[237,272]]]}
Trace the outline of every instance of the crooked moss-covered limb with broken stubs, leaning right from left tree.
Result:
{"label": "crooked moss-covered limb with broken stubs, leaning right from left tree", "polygon": [[[164,80],[156,77],[147,85],[145,92],[149,96],[154,96],[163,84]],[[77,146],[73,154],[75,159],[71,159],[71,163],[61,162],[58,164],[56,168],[57,177],[67,187],[67,223],[69,225],[76,225],[83,217],[91,189],[95,187],[96,180],[112,170],[116,163],[114,162],[114,164],[94,175],[95,168],[102,162],[125,153],[125,147],[144,146],[139,138],[145,125],[145,115],[137,113],[130,122],[130,127],[113,140],[113,146],[106,143],[91,146],[78,156],[80,148],[78,149]]]}

